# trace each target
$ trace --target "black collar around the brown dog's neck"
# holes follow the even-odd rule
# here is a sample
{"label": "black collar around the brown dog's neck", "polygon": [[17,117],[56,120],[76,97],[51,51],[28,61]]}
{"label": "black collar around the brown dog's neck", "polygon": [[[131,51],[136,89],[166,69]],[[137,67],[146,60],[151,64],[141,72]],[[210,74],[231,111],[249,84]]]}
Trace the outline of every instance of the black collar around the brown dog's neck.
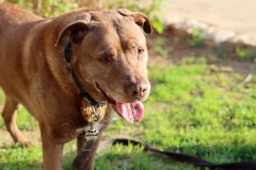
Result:
{"label": "black collar around the brown dog's neck", "polygon": [[[70,60],[71,60],[71,52],[72,52],[72,47],[71,47],[71,42],[69,41],[69,44],[65,48],[65,59],[67,60],[68,63],[70,63]],[[75,71],[73,71],[72,67],[71,67],[71,75],[73,77],[73,80],[75,81],[75,85],[80,90],[80,96],[86,99],[86,101],[88,101],[92,106],[99,108],[100,106],[106,105],[108,103],[108,102],[98,103],[89,95],[89,93],[84,91],[84,88],[80,83],[80,81],[78,80],[77,75],[75,75]]]}

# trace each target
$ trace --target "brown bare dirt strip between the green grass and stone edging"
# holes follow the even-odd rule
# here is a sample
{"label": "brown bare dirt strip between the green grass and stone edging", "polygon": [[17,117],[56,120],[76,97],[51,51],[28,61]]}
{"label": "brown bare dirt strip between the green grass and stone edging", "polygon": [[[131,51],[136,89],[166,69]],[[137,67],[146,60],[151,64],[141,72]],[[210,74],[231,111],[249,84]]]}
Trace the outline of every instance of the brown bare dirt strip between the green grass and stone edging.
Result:
{"label": "brown bare dirt strip between the green grass and stone edging", "polygon": [[[161,39],[161,45],[157,42]],[[235,57],[235,52],[229,49],[213,48],[203,44],[199,47],[191,47],[184,38],[172,36],[169,32],[162,35],[153,34],[147,36],[149,65],[161,64],[163,68],[173,65],[188,56],[200,57],[205,56],[210,65],[218,67],[230,67],[232,71],[241,75],[256,73],[256,62],[253,60],[242,61]],[[163,56],[156,52],[154,48],[161,46],[162,50],[169,50],[168,54]],[[223,52],[220,52],[223,50]]]}

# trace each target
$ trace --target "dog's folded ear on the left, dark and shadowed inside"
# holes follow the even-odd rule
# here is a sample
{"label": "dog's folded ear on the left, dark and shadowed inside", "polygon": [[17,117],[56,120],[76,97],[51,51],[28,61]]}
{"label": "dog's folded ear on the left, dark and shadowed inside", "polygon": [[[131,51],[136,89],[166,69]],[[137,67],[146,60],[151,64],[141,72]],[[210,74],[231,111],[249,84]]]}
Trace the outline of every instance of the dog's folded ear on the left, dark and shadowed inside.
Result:
{"label": "dog's folded ear on the left, dark and shadowed inside", "polygon": [[90,22],[89,19],[88,17],[86,17],[86,19],[78,17],[74,22],[67,25],[60,32],[55,46],[65,45],[69,40],[71,40],[73,44],[81,43],[88,30],[91,30],[94,26],[94,22]]}

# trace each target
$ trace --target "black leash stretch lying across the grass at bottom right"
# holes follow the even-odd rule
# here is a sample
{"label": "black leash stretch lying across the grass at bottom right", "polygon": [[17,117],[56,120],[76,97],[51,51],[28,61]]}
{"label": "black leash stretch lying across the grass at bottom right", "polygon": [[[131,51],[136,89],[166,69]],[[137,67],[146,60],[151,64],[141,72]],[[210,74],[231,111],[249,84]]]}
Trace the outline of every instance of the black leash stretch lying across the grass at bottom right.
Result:
{"label": "black leash stretch lying across the grass at bottom right", "polygon": [[172,153],[167,151],[160,151],[158,148],[155,148],[154,146],[150,146],[149,144],[142,144],[141,142],[137,142],[135,140],[128,140],[124,138],[117,138],[113,140],[104,140],[100,142],[100,145],[98,146],[98,151],[101,151],[103,148],[106,148],[106,146],[109,145],[115,145],[115,144],[123,144],[124,146],[128,146],[129,144],[132,144],[133,146],[139,145],[144,146],[143,151],[151,151],[154,153],[160,153],[162,155],[167,155],[170,157],[170,159],[175,159],[176,161],[183,162],[183,163],[189,163],[195,166],[199,167],[209,167],[210,169],[232,169],[232,170],[253,170],[256,169],[256,162],[249,161],[249,162],[239,162],[239,163],[211,163],[209,161],[206,161],[204,159],[200,159],[199,157],[195,157],[193,155],[186,155],[183,153]]}

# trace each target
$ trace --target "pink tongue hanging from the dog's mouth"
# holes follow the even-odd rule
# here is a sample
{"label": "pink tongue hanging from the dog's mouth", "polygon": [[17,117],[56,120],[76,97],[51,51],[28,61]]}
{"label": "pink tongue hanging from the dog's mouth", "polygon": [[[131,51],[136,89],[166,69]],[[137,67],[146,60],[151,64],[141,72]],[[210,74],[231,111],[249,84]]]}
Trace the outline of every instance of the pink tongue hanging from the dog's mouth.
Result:
{"label": "pink tongue hanging from the dog's mouth", "polygon": [[133,124],[133,122],[140,122],[143,118],[144,107],[140,101],[136,103],[120,103],[116,101],[117,112],[124,120]]}

